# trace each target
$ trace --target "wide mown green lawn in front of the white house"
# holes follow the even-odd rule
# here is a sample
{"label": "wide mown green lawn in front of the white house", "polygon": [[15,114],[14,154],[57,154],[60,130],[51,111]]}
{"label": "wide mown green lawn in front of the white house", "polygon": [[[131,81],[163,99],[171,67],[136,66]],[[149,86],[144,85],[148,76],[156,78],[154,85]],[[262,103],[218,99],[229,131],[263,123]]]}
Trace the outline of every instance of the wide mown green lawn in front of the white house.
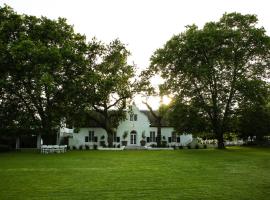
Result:
{"label": "wide mown green lawn in front of the white house", "polygon": [[270,149],[0,154],[0,199],[267,199]]}

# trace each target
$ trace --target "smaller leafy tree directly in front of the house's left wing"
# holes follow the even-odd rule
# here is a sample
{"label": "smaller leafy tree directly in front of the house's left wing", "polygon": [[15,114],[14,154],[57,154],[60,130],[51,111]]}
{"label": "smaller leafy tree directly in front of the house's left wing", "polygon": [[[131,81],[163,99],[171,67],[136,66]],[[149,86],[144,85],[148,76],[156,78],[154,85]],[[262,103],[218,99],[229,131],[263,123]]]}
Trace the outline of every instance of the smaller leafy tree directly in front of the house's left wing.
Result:
{"label": "smaller leafy tree directly in front of the house's left wing", "polygon": [[[119,40],[108,45],[100,42],[97,49],[96,58],[80,80],[82,95],[72,118],[76,121],[79,118],[75,116],[81,115],[94,121],[106,130],[108,144],[112,147],[113,134],[119,122],[125,119],[126,102],[135,90],[135,67],[127,63],[130,53]],[[81,120],[75,122],[76,126],[80,123]]]}

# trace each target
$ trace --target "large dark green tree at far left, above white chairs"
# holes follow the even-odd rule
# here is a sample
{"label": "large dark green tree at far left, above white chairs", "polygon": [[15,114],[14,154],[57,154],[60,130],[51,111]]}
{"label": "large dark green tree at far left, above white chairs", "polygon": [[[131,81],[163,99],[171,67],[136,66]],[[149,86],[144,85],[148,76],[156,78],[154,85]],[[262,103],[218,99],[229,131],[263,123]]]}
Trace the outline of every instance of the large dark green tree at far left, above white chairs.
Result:
{"label": "large dark green tree at far left, above white chairs", "polygon": [[17,127],[55,133],[93,47],[65,19],[20,15],[8,6],[0,7],[0,44],[1,115]]}

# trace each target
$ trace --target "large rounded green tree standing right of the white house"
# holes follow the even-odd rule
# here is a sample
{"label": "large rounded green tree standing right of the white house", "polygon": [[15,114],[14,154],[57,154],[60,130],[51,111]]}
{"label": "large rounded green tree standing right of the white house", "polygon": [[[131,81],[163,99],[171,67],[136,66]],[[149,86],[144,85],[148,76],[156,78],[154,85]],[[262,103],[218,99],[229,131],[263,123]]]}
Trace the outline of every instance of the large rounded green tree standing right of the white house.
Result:
{"label": "large rounded green tree standing right of the white house", "polygon": [[[179,101],[195,102],[224,148],[223,134],[248,83],[256,91],[269,79],[270,38],[255,15],[224,14],[199,29],[187,26],[151,57],[149,70],[160,72],[164,88]],[[252,101],[252,99],[251,99]]]}

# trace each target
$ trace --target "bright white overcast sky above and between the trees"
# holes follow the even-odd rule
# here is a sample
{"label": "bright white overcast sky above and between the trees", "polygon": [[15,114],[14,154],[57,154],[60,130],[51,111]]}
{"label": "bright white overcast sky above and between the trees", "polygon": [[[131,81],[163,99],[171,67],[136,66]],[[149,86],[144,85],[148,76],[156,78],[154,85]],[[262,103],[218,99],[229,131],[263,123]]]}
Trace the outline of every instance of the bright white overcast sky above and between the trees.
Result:
{"label": "bright white overcast sky above and between the trees", "polygon": [[[149,65],[157,48],[183,32],[186,25],[202,27],[218,21],[225,12],[256,14],[259,26],[270,34],[267,0],[0,0],[0,6],[4,4],[20,14],[66,18],[88,40],[96,37],[108,43],[119,38],[132,54],[129,62],[139,70]],[[158,84],[160,80],[153,81]],[[157,107],[159,100],[151,101]]]}

